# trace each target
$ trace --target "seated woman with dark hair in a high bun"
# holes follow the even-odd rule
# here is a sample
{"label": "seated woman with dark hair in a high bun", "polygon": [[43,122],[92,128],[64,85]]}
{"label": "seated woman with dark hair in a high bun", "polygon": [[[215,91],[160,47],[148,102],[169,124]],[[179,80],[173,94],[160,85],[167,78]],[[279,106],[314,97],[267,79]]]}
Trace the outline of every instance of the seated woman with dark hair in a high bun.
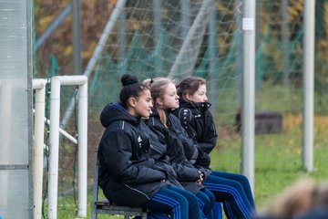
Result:
{"label": "seated woman with dark hair in a high bun", "polygon": [[151,130],[141,120],[151,113],[149,88],[130,75],[121,82],[120,103],[108,104],[100,116],[106,130],[98,147],[99,186],[113,203],[170,218],[201,218],[196,196],[172,185],[169,168],[149,156]]}

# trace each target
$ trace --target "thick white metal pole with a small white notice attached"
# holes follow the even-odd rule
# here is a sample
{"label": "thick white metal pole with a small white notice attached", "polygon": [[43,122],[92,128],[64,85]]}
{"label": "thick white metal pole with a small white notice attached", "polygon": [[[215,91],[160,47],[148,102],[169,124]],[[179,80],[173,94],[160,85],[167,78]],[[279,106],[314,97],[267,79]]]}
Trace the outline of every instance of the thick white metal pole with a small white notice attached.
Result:
{"label": "thick white metal pole with a small white notice attached", "polygon": [[255,8],[255,0],[243,1],[243,97],[241,111],[241,172],[249,179],[252,191],[254,191]]}

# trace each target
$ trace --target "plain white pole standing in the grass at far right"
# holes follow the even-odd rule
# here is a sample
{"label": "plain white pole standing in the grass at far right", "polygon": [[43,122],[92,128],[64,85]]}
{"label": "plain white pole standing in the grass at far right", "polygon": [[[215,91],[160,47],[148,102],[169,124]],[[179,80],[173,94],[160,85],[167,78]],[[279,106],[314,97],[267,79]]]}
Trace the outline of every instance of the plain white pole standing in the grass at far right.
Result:
{"label": "plain white pole standing in the grass at far right", "polygon": [[304,0],[302,160],[307,172],[313,171],[314,12],[315,1]]}

